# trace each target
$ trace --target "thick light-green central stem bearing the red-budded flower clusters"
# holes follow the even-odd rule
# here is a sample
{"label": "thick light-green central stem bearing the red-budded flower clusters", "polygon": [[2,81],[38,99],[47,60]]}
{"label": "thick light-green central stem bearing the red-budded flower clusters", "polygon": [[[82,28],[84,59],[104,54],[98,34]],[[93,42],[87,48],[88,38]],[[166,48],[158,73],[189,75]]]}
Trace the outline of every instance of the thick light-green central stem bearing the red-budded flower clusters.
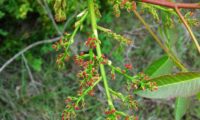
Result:
{"label": "thick light-green central stem bearing the red-budded flower clusters", "polygon": [[[92,31],[93,31],[95,38],[98,40],[97,23],[96,23],[96,16],[95,16],[93,0],[88,0],[88,7],[89,7],[89,12],[90,12],[90,17],[91,17]],[[96,43],[96,51],[97,51],[98,58],[100,58],[102,56],[102,54],[101,54],[100,44],[98,42]],[[101,72],[101,76],[102,76],[103,83],[104,83],[104,88],[105,88],[105,92],[106,92],[106,96],[107,96],[108,105],[111,107],[111,109],[113,109],[114,105],[113,105],[112,98],[111,98],[111,95],[109,92],[108,81],[106,78],[106,73],[105,73],[103,64],[100,64],[100,72]]]}

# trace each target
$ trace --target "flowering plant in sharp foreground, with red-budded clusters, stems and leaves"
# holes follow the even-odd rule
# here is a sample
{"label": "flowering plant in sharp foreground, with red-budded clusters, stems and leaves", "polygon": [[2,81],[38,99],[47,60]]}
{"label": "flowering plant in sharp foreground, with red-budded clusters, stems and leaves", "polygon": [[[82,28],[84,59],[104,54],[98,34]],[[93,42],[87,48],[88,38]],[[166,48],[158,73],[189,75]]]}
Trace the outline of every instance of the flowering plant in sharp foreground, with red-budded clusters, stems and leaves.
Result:
{"label": "flowering plant in sharp foreground, with red-budded clusters, stems and leaves", "polygon": [[[55,10],[55,19],[56,21],[64,21],[66,17],[66,10],[68,4],[72,1],[67,0],[55,0],[54,10]],[[159,13],[158,10],[164,11],[165,14],[162,15],[162,20],[165,21],[163,24],[165,26],[173,26],[173,20],[169,16],[175,16],[176,19],[180,18],[188,30],[191,38],[194,42],[194,45],[200,52],[200,47],[196,37],[194,36],[189,24],[194,24],[195,20],[191,20],[189,17],[186,20],[184,16],[180,13],[180,9],[190,8],[190,9],[198,9],[200,8],[199,3],[175,3],[170,2],[169,0],[108,0],[104,1],[106,4],[112,6],[112,11],[116,17],[121,15],[121,10],[124,9],[127,12],[134,13],[135,16],[142,22],[145,28],[149,31],[149,33],[153,36],[155,41],[159,44],[159,46],[164,50],[167,57],[162,57],[160,60],[153,63],[148,67],[146,72],[140,72],[137,74],[132,74],[132,70],[134,69],[131,63],[124,63],[124,67],[120,68],[115,66],[106,55],[104,55],[101,51],[103,47],[101,42],[103,40],[99,39],[98,33],[101,31],[106,36],[115,39],[122,45],[133,45],[134,42],[126,38],[120,34],[117,34],[111,31],[108,28],[104,28],[97,24],[97,18],[101,20],[101,13],[99,11],[99,6],[101,5],[101,1],[98,0],[85,0],[87,5],[85,8],[82,8],[82,12],[77,15],[76,22],[74,24],[74,31],[72,33],[65,33],[63,37],[60,38],[58,42],[53,44],[53,48],[56,51],[61,51],[58,55],[56,63],[59,68],[64,67],[65,62],[69,60],[69,58],[73,58],[74,63],[79,68],[79,72],[76,73],[78,78],[79,86],[77,86],[77,95],[76,96],[68,96],[65,100],[66,106],[62,113],[62,120],[70,120],[76,119],[76,115],[81,110],[86,109],[87,107],[87,98],[95,97],[98,93],[98,87],[100,83],[103,83],[103,90],[101,92],[105,93],[106,103],[103,106],[104,112],[102,112],[102,117],[107,120],[137,120],[138,117],[134,114],[134,110],[138,110],[137,100],[134,98],[135,94],[139,94],[142,96],[148,96],[146,94],[151,94],[152,97],[156,98],[158,94],[167,93],[170,97],[179,97],[179,96],[188,96],[184,94],[184,90],[181,91],[181,85],[184,86],[182,82],[190,81],[187,84],[191,86],[194,85],[194,79],[199,79],[199,73],[191,73],[184,67],[184,65],[180,62],[180,60],[175,56],[173,50],[167,46],[166,43],[162,42],[160,38],[155,34],[155,32],[151,29],[151,27],[145,22],[145,20],[141,17],[141,15],[137,12],[137,9],[140,12],[147,12],[153,15],[153,18],[158,21]],[[105,4],[105,3],[104,3]],[[78,53],[77,55],[72,55],[70,52],[70,46],[75,41],[75,35],[79,32],[82,26],[85,25],[85,21],[89,22],[91,26],[91,32],[89,33],[89,37],[85,40],[83,46],[88,49],[88,53]],[[188,23],[189,22],[189,23]],[[177,66],[182,72],[181,74],[168,76],[160,76],[163,73],[170,73],[169,69],[164,66],[164,62],[166,60],[170,60],[173,65]],[[170,64],[171,65],[171,64]],[[105,70],[109,68],[109,70]],[[165,70],[166,68],[166,70]],[[110,71],[110,72],[106,72]],[[110,86],[108,81],[111,82],[117,80],[116,74],[124,76],[124,80],[126,81],[124,93],[121,91],[115,91],[113,86]],[[109,77],[108,77],[109,76]],[[186,77],[184,77],[186,76]],[[193,79],[190,79],[192,76]],[[173,86],[174,83],[178,86]],[[181,85],[179,85],[181,84]],[[200,85],[199,85],[200,86]],[[180,87],[177,89],[177,87]],[[198,87],[197,87],[198,88]],[[195,89],[197,89],[195,88]],[[169,91],[170,89],[170,91]],[[178,92],[177,92],[178,91]],[[177,92],[176,95],[173,95],[173,92]],[[192,92],[190,90],[187,91]],[[193,91],[197,93],[198,91]],[[184,95],[183,95],[184,94]],[[159,96],[159,95],[158,95]],[[148,96],[149,97],[149,96]],[[149,97],[150,98],[150,97]],[[117,101],[117,102],[115,102]],[[184,104],[182,104],[184,105]],[[121,109],[125,107],[126,109]],[[183,114],[178,114],[179,118],[182,117]]]}

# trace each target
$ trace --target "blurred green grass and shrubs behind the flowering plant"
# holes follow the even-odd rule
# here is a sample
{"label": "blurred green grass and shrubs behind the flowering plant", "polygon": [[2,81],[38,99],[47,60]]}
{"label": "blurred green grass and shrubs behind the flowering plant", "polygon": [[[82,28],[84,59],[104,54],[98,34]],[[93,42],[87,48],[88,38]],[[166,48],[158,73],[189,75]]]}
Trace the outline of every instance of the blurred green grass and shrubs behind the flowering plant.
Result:
{"label": "blurred green grass and shrubs behind the flowering plant", "polygon": [[[106,53],[117,66],[132,63],[133,73],[144,71],[151,61],[158,59],[163,51],[155,42],[143,25],[133,14],[122,11],[116,18],[112,13],[112,7],[100,1],[102,18],[100,25],[112,29],[134,41],[132,46],[122,46],[111,38],[100,34],[103,40],[103,52]],[[0,119],[2,120],[55,120],[60,119],[65,106],[64,100],[68,95],[76,94],[78,81],[76,72],[78,69],[70,60],[64,70],[59,70],[55,63],[56,51],[52,49],[52,43],[65,32],[71,32],[76,20],[75,16],[86,6],[84,0],[69,2],[66,9],[67,20],[56,23],[53,19],[52,0],[1,0],[0,1],[0,67],[6,61],[20,52],[22,49],[38,41],[50,40],[32,47],[20,54],[4,70],[0,71]],[[148,9],[148,8],[147,8]],[[72,12],[73,11],[73,12]],[[74,12],[75,11],[75,12]],[[185,10],[188,12],[190,10]],[[200,20],[200,11],[192,11],[193,17]],[[162,13],[158,10],[159,19],[155,16],[141,12],[148,20],[157,34],[167,41],[169,45],[176,46],[174,51],[184,61],[191,71],[197,71],[200,67],[199,54],[190,40],[190,36],[179,21],[173,21],[174,26],[167,30]],[[87,22],[85,24],[88,24]],[[193,27],[197,39],[200,39],[200,25]],[[81,45],[88,37],[90,29],[83,28],[76,35],[76,42],[72,49],[75,53],[85,51]],[[174,69],[176,71],[176,69]],[[109,72],[109,71],[108,71]],[[123,77],[118,79],[113,86],[119,90]],[[102,101],[102,93],[97,99],[89,98],[90,108],[80,111],[79,120],[101,120],[103,109],[99,107]],[[144,120],[170,120],[173,119],[174,99],[149,100],[138,97],[140,102],[139,115]],[[200,119],[200,95],[192,98],[184,119]]]}

